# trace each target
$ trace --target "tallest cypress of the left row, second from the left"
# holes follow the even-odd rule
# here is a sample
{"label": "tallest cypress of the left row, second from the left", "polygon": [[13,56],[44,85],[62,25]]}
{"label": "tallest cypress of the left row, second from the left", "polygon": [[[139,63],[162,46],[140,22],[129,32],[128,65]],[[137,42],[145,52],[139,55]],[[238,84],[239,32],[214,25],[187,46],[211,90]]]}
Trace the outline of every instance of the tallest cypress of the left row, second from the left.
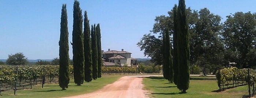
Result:
{"label": "tallest cypress of the left row, second from the left", "polygon": [[79,7],[79,2],[74,1],[73,9],[73,66],[74,66],[74,81],[80,86],[84,83],[84,39],[82,27],[82,10]]}

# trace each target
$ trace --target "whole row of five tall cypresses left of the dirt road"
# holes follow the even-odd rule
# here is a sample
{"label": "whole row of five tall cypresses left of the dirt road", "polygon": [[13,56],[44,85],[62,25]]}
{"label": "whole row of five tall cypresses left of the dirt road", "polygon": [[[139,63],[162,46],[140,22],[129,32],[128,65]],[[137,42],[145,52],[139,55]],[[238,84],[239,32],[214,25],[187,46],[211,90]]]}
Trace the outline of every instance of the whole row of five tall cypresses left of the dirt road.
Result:
{"label": "whole row of five tall cypresses left of the dirt road", "polygon": [[[101,78],[102,66],[100,24],[97,24],[97,27],[95,24],[92,26],[92,35],[90,36],[90,24],[87,12],[85,11],[83,33],[82,10],[79,5],[79,2],[75,0],[73,6],[73,43],[71,43],[73,46],[74,82],[78,86],[83,84],[84,80],[85,82],[91,82],[92,79]],[[59,86],[62,88],[62,90],[65,90],[65,88],[68,88],[68,83],[70,80],[68,70],[69,48],[66,4],[62,5],[59,46]]]}

